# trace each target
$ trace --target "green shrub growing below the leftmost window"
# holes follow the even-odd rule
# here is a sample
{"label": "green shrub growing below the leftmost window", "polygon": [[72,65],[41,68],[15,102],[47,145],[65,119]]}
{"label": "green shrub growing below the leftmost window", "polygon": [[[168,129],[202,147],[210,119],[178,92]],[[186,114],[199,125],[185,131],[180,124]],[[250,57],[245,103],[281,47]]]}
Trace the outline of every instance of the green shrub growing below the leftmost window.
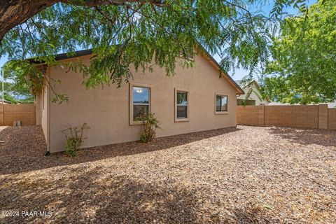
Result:
{"label": "green shrub growing below the leftmost window", "polygon": [[155,113],[143,113],[139,121],[144,124],[144,132],[140,134],[140,141],[148,142],[155,138],[156,130],[160,129],[160,124]]}

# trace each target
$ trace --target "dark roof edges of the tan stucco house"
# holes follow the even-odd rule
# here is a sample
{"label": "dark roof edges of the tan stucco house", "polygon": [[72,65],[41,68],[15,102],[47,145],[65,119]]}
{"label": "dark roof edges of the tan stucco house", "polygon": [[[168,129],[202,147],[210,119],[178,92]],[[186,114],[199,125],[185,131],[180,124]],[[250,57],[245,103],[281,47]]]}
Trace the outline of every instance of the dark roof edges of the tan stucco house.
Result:
{"label": "dark roof edges of the tan stucco house", "polygon": [[[203,52],[205,52],[206,56],[211,60],[211,62],[214,64],[214,66],[217,67],[218,70],[221,69],[222,71],[224,71],[224,74],[225,74],[224,78],[226,80],[228,80],[228,82],[230,83],[230,85],[232,85],[232,87],[235,88],[237,94],[245,94],[244,90],[235,82],[235,80],[233,80],[231,78],[231,76],[228,75],[228,73],[225,72],[225,70],[221,67],[220,64],[218,64],[218,62],[214,59],[214,57],[212,57],[210,55],[210,53],[203,48],[202,45],[200,45],[200,48]],[[58,60],[62,60],[62,59],[69,59],[69,58],[73,58],[73,57],[81,57],[81,56],[85,56],[85,55],[92,55],[92,49],[78,50],[78,51],[74,52],[72,55],[69,55],[68,53],[58,54],[58,55],[55,56],[55,60],[58,61]],[[44,63],[44,62],[38,62],[35,59],[29,59],[29,62],[36,63],[36,64]]]}

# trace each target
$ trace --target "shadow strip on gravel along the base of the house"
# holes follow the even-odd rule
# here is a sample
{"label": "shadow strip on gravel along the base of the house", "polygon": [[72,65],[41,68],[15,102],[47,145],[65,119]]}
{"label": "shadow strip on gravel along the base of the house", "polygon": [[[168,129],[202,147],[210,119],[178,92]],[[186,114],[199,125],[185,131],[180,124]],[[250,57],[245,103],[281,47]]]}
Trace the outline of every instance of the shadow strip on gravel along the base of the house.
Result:
{"label": "shadow strip on gravel along the base of the house", "polygon": [[0,174],[17,174],[62,165],[103,160],[116,156],[160,151],[239,130],[241,129],[230,127],[180,134],[172,137],[161,137],[148,144],[133,141],[109,146],[97,146],[82,149],[78,151],[78,155],[75,158],[70,158],[64,153],[53,153],[48,157],[43,156],[46,144],[41,127],[7,127],[0,132],[0,140],[6,141],[5,144],[0,145]]}

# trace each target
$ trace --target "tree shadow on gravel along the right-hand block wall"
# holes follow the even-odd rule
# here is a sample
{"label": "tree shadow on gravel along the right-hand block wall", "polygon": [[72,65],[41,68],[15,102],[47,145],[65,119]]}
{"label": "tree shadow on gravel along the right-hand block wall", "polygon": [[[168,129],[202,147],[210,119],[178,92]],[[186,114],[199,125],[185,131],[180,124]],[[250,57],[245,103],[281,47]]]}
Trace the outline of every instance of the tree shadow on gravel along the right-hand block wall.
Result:
{"label": "tree shadow on gravel along the right-hand block wall", "polygon": [[302,145],[336,146],[335,130],[298,129],[293,127],[272,127],[271,134],[279,135],[293,143]]}

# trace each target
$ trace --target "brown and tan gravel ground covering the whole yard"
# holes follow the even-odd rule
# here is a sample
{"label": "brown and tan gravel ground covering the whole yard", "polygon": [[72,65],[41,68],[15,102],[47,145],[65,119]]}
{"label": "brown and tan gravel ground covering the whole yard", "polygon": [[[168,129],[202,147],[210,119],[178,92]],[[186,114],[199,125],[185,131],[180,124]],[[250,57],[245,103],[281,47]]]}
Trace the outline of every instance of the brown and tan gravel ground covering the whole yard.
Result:
{"label": "brown and tan gravel ground covering the whole yard", "polygon": [[76,158],[44,157],[40,127],[0,140],[0,211],[52,211],[1,223],[336,223],[335,131],[238,126]]}

